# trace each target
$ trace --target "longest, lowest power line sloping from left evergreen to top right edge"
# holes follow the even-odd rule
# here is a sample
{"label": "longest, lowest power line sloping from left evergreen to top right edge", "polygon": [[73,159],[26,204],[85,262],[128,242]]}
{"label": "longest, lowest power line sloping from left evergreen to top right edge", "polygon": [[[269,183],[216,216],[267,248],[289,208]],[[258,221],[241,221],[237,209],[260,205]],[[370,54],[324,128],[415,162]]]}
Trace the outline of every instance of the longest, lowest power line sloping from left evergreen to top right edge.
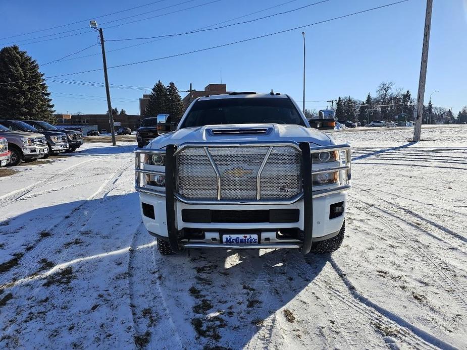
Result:
{"label": "longest, lowest power line sloping from left evergreen to top right edge", "polygon": [[[112,66],[112,67],[108,67],[108,69],[112,69],[112,68],[121,68],[121,67],[134,66],[134,65],[139,65],[139,64],[148,63],[148,62],[160,61],[160,60],[170,59],[170,58],[173,58],[173,57],[184,56],[184,55],[187,55],[187,54],[192,54],[192,53],[197,53],[197,52],[212,50],[212,49],[215,49],[215,48],[220,48],[220,47],[226,47],[226,46],[230,46],[230,45],[235,45],[235,44],[239,44],[239,43],[243,43],[243,42],[248,42],[248,41],[252,41],[252,40],[256,40],[256,39],[262,39],[262,38],[266,38],[266,37],[273,36],[273,35],[277,35],[277,34],[287,33],[287,32],[293,31],[293,30],[297,30],[297,29],[302,29],[302,28],[306,28],[306,27],[310,27],[310,26],[314,26],[314,25],[318,25],[318,24],[322,24],[322,23],[327,23],[327,22],[335,21],[335,20],[338,20],[338,19],[343,19],[343,18],[346,18],[346,17],[354,16],[354,15],[359,15],[359,14],[366,13],[366,12],[370,12],[370,11],[374,11],[374,10],[379,10],[379,9],[386,8],[386,7],[389,7],[389,6],[394,6],[394,5],[397,5],[397,4],[405,3],[405,2],[407,2],[407,1],[409,1],[409,0],[401,0],[401,1],[398,1],[398,2],[395,2],[395,3],[391,3],[391,4],[387,4],[387,5],[378,6],[378,7],[374,7],[374,8],[367,9],[367,10],[361,10],[361,11],[353,12],[353,13],[350,13],[350,14],[347,14],[347,15],[342,15],[342,16],[330,18],[330,19],[327,19],[327,20],[323,20],[323,21],[319,21],[319,22],[315,22],[315,23],[306,24],[306,25],[303,25],[303,26],[298,26],[298,27],[294,27],[294,28],[290,28],[290,29],[285,29],[285,30],[281,30],[281,31],[274,32],[274,33],[268,33],[268,34],[264,34],[264,35],[260,35],[260,36],[255,36],[255,37],[252,37],[252,38],[247,38],[247,39],[243,39],[243,40],[233,41],[233,42],[229,42],[229,43],[226,43],[226,44],[221,44],[221,45],[216,45],[216,46],[201,48],[201,49],[192,50],[192,51],[188,51],[188,52],[176,53],[176,54],[172,54],[172,55],[169,55],[169,56],[157,57],[157,58],[155,58],[155,59],[144,60],[144,61],[138,61],[138,62],[131,62],[131,63],[123,64],[123,65]],[[98,71],[101,71],[101,70],[102,70],[102,68],[97,68],[97,69],[91,69],[91,70],[81,71],[81,72],[73,72],[73,73],[59,74],[59,75],[50,76],[50,77],[47,77],[47,78],[65,77],[65,76],[70,76],[70,75],[77,75],[77,74],[98,72]],[[16,81],[16,82],[6,82],[6,83],[0,83],[0,84],[2,84],[2,85],[3,85],[3,84],[13,84],[13,83],[25,82],[25,81],[30,81],[30,80],[37,80],[37,79],[27,79],[27,80],[20,80],[20,81]]]}

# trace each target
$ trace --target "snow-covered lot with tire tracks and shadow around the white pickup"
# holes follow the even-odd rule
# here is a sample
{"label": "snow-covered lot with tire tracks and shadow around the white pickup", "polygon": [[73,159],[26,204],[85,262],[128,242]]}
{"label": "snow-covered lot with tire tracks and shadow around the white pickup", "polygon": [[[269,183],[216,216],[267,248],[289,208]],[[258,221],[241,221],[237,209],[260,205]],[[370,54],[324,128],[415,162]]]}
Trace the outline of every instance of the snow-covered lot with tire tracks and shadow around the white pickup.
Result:
{"label": "snow-covered lot with tire tracks and shadow around the white pickup", "polygon": [[162,257],[134,143],[0,178],[0,348],[467,348],[467,127],[331,132],[353,146],[331,256]]}

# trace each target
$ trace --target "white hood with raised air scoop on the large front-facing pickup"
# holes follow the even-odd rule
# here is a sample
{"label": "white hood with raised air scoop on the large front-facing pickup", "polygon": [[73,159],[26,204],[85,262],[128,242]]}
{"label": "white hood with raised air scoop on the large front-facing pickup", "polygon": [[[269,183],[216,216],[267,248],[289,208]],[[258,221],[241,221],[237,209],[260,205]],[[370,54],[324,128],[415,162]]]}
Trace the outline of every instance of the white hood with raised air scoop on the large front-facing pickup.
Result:
{"label": "white hood with raised air scoop on the large front-facing pickup", "polygon": [[[233,129],[233,130],[232,130]],[[264,133],[249,133],[251,129],[264,129]],[[232,134],[232,132],[239,131]],[[169,144],[180,145],[189,142],[271,142],[294,141],[310,142],[317,146],[334,144],[325,133],[299,125],[282,124],[238,124],[206,125],[203,127],[184,128],[161,135],[151,141],[148,148],[163,148]]]}

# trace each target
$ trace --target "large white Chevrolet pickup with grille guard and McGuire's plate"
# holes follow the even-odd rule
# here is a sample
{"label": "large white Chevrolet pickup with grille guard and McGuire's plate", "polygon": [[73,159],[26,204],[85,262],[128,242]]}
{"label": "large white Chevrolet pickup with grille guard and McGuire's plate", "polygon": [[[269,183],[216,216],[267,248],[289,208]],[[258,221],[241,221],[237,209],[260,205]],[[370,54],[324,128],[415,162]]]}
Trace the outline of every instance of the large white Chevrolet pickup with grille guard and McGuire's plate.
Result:
{"label": "large white Chevrolet pickup with grille guard and McGuire's plate", "polygon": [[185,248],[330,253],[345,231],[350,146],[279,93],[195,99],[172,132],[135,149],[135,190],[161,254]]}

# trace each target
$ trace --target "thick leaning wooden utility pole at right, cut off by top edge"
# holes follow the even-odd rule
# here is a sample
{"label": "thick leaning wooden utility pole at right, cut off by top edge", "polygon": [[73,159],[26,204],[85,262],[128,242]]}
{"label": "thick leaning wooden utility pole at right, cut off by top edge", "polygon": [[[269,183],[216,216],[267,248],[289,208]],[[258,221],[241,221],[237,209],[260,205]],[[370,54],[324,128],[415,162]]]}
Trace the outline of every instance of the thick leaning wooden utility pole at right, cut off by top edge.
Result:
{"label": "thick leaning wooden utility pole at right, cut off by top edge", "polygon": [[416,115],[415,128],[413,130],[414,142],[420,141],[420,136],[422,133],[423,97],[425,95],[425,83],[427,80],[428,46],[430,44],[432,9],[433,0],[427,0],[427,10],[425,13],[425,31],[423,34],[422,63],[420,67],[419,91],[417,95],[417,111],[414,113],[414,115]]}

